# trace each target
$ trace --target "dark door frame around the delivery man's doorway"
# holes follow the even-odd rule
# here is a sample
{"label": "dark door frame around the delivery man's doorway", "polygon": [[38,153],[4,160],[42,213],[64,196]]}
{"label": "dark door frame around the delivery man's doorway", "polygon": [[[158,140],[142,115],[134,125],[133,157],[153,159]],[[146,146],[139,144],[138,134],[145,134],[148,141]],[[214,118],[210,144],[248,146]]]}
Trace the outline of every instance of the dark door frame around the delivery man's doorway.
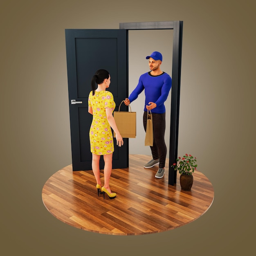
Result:
{"label": "dark door frame around the delivery man's doorway", "polygon": [[[171,91],[171,127],[169,150],[169,176],[168,184],[174,185],[177,180],[177,171],[171,166],[176,162],[178,155],[178,132],[180,115],[180,76],[182,56],[183,21],[157,21],[157,22],[127,22],[119,23],[119,29],[144,30],[144,29],[173,29],[173,66],[172,66],[172,91]],[[127,36],[128,38],[128,36]],[[127,48],[128,42],[127,42]],[[128,49],[127,49],[128,50]]]}

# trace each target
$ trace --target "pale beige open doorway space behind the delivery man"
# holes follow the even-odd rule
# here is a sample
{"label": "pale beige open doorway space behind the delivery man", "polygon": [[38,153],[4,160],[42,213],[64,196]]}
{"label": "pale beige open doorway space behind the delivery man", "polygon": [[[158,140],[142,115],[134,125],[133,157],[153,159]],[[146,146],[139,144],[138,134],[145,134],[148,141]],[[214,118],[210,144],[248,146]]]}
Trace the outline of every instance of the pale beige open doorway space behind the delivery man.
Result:
{"label": "pale beige open doorway space behind the delivery man", "polygon": [[[128,31],[128,88],[129,95],[137,86],[139,76],[149,71],[146,56],[152,52],[161,52],[163,61],[161,70],[172,76],[173,62],[173,30],[172,29],[149,29]],[[129,139],[129,153],[151,155],[149,146],[144,146],[145,131],[143,128],[145,94],[141,92],[139,97],[130,106],[137,116],[137,136]],[[166,132],[165,142],[167,147],[166,158],[169,157],[170,148],[170,122],[171,122],[171,91],[165,102],[166,106]],[[167,167],[167,166],[166,166]]]}

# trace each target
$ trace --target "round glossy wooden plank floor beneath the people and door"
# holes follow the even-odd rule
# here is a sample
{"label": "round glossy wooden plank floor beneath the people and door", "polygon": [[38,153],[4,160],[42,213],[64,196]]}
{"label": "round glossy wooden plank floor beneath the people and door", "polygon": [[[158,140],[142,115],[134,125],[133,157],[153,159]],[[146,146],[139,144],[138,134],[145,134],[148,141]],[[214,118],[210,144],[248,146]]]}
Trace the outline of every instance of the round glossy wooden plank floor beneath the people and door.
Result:
{"label": "round glossy wooden plank floor beneath the people and door", "polygon": [[[199,171],[193,173],[191,191],[177,184],[168,185],[168,168],[164,177],[155,178],[158,166],[144,168],[151,159],[130,155],[129,168],[113,169],[110,200],[98,197],[92,171],[72,171],[72,165],[57,171],[43,187],[47,210],[58,220],[86,231],[112,235],[142,235],[175,229],[204,214],[211,206],[214,191],[211,182]],[[168,162],[166,162],[168,166]],[[103,171],[101,173],[102,184]]]}

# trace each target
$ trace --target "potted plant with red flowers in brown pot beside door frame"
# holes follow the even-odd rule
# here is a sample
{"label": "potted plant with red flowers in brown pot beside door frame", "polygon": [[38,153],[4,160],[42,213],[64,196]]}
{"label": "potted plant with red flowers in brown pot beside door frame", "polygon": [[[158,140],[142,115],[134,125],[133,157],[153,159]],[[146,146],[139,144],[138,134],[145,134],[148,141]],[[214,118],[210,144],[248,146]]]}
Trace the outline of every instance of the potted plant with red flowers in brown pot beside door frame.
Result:
{"label": "potted plant with red flowers in brown pot beside door frame", "polygon": [[180,186],[184,191],[190,191],[193,185],[193,175],[192,173],[196,170],[198,166],[195,164],[196,157],[192,155],[184,155],[183,157],[178,157],[176,159],[177,163],[174,163],[172,166],[175,171],[180,173]]}

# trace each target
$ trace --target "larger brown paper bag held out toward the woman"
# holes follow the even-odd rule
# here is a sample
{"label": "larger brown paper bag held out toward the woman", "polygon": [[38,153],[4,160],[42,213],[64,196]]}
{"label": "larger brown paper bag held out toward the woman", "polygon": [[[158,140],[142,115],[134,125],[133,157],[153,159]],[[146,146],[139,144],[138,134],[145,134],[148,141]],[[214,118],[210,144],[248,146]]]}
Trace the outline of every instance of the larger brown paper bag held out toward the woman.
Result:
{"label": "larger brown paper bag held out toward the woman", "polygon": [[[135,138],[136,137],[136,112],[132,112],[130,107],[130,112],[120,111],[120,106],[124,101],[119,105],[119,110],[114,111],[114,119],[117,124],[117,128],[123,138]],[[114,137],[116,134],[114,132]]]}

